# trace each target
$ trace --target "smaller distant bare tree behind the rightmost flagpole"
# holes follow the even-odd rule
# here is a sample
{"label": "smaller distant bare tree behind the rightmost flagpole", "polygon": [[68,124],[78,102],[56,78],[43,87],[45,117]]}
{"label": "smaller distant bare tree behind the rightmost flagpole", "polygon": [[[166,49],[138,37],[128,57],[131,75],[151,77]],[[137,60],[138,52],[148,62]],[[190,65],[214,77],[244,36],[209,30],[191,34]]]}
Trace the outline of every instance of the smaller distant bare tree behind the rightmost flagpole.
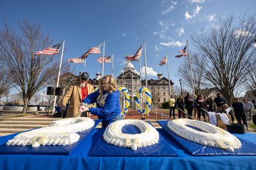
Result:
{"label": "smaller distant bare tree behind the rightmost flagpole", "polygon": [[178,68],[177,77],[182,79],[183,85],[189,89],[193,88],[192,80],[194,81],[195,94],[200,94],[200,88],[205,86],[205,78],[203,72],[205,69],[204,60],[200,53],[193,53],[191,55],[191,67],[193,71],[193,79],[191,78],[191,70],[189,66],[189,58],[184,57],[184,62]]}

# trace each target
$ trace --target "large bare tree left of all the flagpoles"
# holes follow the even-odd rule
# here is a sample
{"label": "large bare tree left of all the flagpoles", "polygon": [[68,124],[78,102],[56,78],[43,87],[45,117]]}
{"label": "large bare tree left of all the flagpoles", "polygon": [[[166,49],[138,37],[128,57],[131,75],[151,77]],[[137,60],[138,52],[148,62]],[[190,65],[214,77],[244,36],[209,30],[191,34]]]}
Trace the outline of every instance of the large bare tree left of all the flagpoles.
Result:
{"label": "large bare tree left of all the flagpoles", "polygon": [[19,29],[17,34],[5,23],[0,33],[0,66],[10,73],[15,88],[22,93],[22,113],[26,113],[31,97],[52,81],[58,66],[56,56],[35,55],[52,45],[40,25],[24,20]]}

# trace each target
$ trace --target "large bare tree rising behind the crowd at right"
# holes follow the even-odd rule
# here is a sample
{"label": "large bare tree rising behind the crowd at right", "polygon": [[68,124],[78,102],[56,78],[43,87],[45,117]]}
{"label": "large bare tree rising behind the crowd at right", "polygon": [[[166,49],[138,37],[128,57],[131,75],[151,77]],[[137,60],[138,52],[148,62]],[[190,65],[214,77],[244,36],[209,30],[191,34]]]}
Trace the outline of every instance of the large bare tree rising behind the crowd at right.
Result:
{"label": "large bare tree rising behind the crowd at right", "polygon": [[219,18],[211,32],[192,36],[204,62],[204,77],[232,103],[234,90],[244,85],[248,66],[255,60],[255,15],[243,18]]}

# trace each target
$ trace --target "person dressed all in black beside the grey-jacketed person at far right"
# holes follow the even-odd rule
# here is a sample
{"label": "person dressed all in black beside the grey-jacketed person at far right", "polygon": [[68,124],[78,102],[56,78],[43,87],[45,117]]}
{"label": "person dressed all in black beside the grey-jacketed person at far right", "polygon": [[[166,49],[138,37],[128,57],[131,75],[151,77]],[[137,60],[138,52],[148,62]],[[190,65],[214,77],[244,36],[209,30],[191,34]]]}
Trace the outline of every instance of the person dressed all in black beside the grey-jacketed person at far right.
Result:
{"label": "person dressed all in black beside the grey-jacketed person at far right", "polygon": [[244,104],[239,102],[239,99],[235,97],[235,102],[232,103],[232,108],[234,109],[235,112],[235,117],[237,119],[238,124],[242,124],[241,119],[243,120],[243,124],[246,125],[247,130],[248,130],[248,124],[246,120],[246,114],[244,110]]}

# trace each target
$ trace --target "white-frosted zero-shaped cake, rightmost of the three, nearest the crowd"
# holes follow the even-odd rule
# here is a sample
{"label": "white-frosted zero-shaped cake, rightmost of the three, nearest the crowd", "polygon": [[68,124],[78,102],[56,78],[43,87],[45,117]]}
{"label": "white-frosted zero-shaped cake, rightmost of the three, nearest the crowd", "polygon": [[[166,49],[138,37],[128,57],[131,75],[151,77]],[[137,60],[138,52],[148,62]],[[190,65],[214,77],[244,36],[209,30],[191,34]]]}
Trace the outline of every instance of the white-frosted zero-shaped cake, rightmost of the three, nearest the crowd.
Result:
{"label": "white-frosted zero-shaped cake, rightmost of the three, nearest the crowd", "polygon": [[[204,132],[196,131],[195,129],[188,127],[188,125],[197,127]],[[241,141],[229,132],[224,131],[220,127],[216,127],[215,125],[198,120],[180,118],[168,122],[168,127],[182,138],[205,146],[234,152],[235,149],[241,148],[242,145]],[[225,146],[220,145],[220,143],[225,143]]]}

